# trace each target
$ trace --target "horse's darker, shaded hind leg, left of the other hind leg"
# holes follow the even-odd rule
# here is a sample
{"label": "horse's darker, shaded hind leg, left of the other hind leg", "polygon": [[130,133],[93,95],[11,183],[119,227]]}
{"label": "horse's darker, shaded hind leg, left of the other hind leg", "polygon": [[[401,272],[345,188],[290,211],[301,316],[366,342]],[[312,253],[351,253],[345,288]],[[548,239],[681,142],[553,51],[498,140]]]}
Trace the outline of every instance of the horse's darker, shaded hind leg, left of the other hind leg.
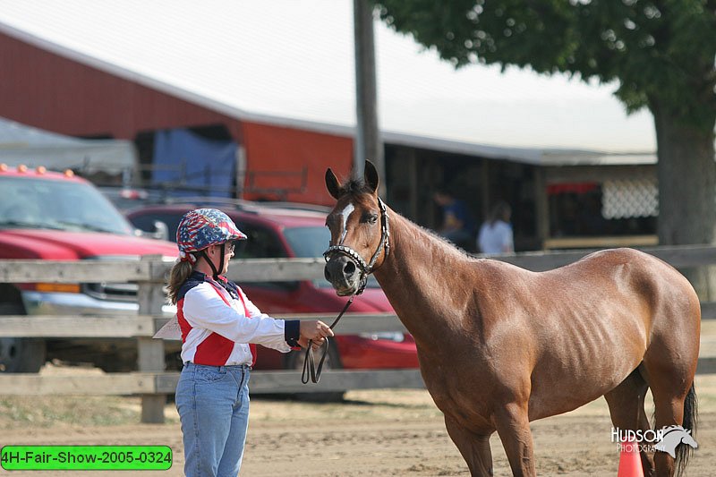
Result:
{"label": "horse's darker, shaded hind leg, left of the other hind leg", "polygon": [[[635,370],[617,388],[604,395],[615,428],[642,431],[651,429],[649,418],[644,411],[644,397],[648,388],[649,385],[642,375]],[[641,457],[644,475],[647,477],[654,475],[656,471],[653,457],[645,452],[641,452]]]}

